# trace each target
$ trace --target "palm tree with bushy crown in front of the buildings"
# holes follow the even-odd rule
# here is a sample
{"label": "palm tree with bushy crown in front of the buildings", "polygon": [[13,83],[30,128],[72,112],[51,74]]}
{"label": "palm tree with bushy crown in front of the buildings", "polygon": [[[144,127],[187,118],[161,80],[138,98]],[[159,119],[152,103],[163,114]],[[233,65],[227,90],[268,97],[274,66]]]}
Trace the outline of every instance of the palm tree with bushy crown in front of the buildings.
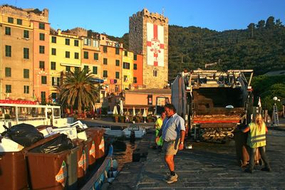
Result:
{"label": "palm tree with bushy crown in front of the buildings", "polygon": [[91,73],[85,68],[68,72],[63,84],[58,88],[59,99],[63,105],[77,105],[78,113],[81,113],[82,107],[95,105],[98,88],[91,82],[91,78]]}

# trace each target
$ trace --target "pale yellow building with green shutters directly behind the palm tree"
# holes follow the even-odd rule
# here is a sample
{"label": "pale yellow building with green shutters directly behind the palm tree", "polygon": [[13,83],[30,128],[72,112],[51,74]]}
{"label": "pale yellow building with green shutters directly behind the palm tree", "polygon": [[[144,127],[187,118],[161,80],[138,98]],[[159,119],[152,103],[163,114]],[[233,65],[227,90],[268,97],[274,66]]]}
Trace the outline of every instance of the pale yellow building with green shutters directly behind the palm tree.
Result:
{"label": "pale yellow building with green shutters directly behind the palm tree", "polygon": [[68,71],[81,69],[81,38],[77,35],[51,30],[50,34],[50,78],[51,97],[56,98],[56,86],[61,85]]}

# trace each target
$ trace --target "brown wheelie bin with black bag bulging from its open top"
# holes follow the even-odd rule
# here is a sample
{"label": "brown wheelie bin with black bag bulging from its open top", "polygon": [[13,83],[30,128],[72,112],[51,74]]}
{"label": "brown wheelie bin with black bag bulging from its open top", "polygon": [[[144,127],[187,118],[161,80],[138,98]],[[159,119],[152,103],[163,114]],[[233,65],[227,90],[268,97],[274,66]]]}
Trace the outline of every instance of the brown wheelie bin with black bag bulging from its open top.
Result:
{"label": "brown wheelie bin with black bag bulging from its open top", "polygon": [[[73,143],[66,134],[59,134],[57,138],[25,152],[30,189],[68,189],[68,184],[76,183],[76,178],[71,175],[77,172],[77,154],[71,146]],[[70,178],[75,180],[68,181]]]}

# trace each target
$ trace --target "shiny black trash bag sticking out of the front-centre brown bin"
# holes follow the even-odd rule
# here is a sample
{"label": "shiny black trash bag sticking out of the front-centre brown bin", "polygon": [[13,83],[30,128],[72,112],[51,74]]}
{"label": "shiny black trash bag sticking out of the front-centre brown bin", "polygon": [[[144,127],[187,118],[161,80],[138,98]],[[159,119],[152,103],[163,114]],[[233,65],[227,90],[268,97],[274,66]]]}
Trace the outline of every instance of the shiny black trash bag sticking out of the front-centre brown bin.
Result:
{"label": "shiny black trash bag sticking out of the front-centre brown bin", "polygon": [[29,152],[33,153],[58,153],[66,149],[73,149],[76,147],[71,139],[66,134],[61,134],[55,139],[52,139],[41,146],[31,149]]}

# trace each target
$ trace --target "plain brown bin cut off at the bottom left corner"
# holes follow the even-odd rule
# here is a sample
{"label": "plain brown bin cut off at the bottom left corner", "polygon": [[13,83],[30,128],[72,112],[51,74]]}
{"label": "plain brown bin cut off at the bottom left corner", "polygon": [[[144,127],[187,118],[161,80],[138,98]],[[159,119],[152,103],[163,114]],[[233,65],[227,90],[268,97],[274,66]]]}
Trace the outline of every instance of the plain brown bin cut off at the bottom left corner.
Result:
{"label": "plain brown bin cut off at the bottom left corner", "polygon": [[27,189],[28,174],[24,153],[0,152],[0,189]]}

